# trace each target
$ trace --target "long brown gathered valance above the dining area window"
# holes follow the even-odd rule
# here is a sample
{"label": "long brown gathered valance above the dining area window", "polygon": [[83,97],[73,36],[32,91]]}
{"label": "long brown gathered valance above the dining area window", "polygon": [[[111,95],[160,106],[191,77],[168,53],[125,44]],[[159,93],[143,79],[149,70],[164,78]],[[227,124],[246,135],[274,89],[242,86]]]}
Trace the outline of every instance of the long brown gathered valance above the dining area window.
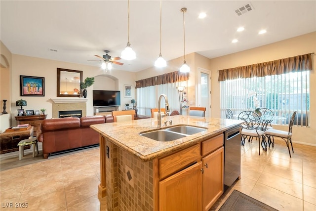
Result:
{"label": "long brown gathered valance above the dining area window", "polygon": [[264,77],[312,70],[311,54],[312,53],[308,53],[285,59],[219,70],[218,81],[222,82],[239,78]]}

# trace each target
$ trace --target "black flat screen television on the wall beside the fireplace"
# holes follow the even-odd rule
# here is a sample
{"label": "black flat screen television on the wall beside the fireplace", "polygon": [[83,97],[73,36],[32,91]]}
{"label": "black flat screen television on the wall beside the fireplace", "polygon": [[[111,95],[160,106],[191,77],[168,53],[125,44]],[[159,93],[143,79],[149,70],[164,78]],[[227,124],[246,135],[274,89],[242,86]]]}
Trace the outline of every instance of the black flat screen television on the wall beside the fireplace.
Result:
{"label": "black flat screen television on the wall beside the fireplace", "polygon": [[120,91],[93,90],[93,106],[119,106]]}

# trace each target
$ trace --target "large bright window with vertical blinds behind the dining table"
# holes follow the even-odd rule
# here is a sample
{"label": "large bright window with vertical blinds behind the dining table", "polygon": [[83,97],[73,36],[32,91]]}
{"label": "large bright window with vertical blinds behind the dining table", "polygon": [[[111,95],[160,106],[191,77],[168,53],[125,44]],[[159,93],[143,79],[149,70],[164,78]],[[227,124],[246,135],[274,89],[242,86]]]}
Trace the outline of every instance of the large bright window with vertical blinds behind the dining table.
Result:
{"label": "large bright window with vertical blinds behind the dining table", "polygon": [[230,108],[236,115],[244,110],[255,109],[253,96],[256,96],[259,108],[269,108],[275,115],[286,117],[285,121],[273,124],[288,125],[292,113],[297,111],[294,125],[310,126],[310,71],[220,83],[222,118],[225,118],[226,108]]}

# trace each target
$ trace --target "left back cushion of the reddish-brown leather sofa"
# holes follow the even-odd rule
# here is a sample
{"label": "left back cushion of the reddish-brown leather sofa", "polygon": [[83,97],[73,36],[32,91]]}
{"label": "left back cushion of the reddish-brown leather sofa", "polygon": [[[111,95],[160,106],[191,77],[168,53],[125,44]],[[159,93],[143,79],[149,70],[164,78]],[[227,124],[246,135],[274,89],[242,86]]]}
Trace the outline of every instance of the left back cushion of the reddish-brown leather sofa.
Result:
{"label": "left back cushion of the reddish-brown leather sofa", "polygon": [[41,130],[42,132],[48,130],[68,129],[80,127],[80,119],[78,117],[59,118],[51,120],[43,120]]}

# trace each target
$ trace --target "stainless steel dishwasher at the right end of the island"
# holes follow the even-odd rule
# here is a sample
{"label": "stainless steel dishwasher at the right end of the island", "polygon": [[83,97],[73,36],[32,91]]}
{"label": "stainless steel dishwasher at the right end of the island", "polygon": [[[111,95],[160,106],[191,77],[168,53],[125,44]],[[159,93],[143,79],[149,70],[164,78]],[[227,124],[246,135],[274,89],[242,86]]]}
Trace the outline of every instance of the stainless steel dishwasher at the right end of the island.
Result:
{"label": "stainless steel dishwasher at the right end of the island", "polygon": [[224,192],[240,178],[241,126],[224,132]]}

